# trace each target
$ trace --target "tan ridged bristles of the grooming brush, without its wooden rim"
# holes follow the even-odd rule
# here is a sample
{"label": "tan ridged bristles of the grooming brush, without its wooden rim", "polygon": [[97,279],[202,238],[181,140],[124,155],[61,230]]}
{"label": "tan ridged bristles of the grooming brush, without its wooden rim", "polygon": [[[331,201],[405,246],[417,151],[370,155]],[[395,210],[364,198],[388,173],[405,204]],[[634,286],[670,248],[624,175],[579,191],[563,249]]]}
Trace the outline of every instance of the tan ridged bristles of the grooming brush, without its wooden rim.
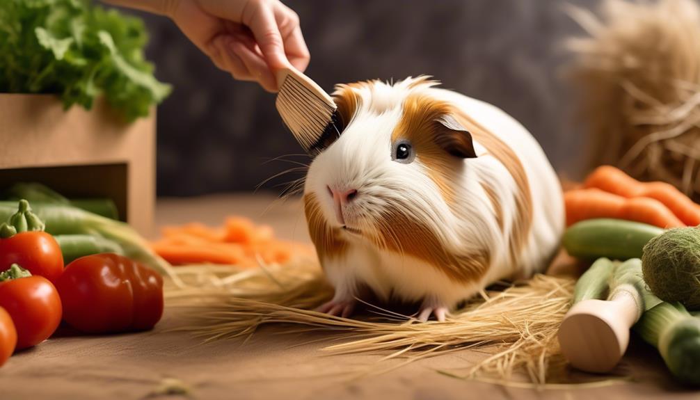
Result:
{"label": "tan ridged bristles of the grooming brush, without its wooden rim", "polygon": [[314,153],[333,124],[335,104],[289,75],[279,89],[275,105],[300,145]]}

